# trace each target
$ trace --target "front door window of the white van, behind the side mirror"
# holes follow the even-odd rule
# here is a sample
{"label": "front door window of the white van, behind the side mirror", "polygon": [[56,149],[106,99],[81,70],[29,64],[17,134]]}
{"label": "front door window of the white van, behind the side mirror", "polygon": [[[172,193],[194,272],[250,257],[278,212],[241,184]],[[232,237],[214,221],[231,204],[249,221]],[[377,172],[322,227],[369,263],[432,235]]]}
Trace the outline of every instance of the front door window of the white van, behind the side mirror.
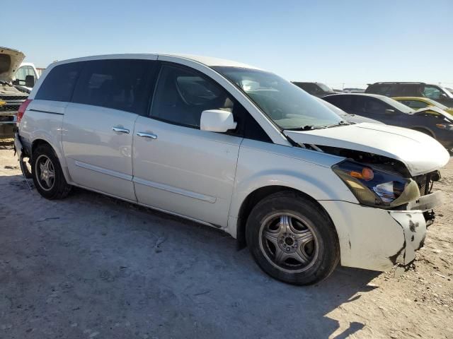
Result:
{"label": "front door window of the white van, behind the side mirror", "polygon": [[151,117],[200,128],[201,113],[206,109],[225,109],[234,114],[234,100],[214,81],[195,71],[162,66]]}

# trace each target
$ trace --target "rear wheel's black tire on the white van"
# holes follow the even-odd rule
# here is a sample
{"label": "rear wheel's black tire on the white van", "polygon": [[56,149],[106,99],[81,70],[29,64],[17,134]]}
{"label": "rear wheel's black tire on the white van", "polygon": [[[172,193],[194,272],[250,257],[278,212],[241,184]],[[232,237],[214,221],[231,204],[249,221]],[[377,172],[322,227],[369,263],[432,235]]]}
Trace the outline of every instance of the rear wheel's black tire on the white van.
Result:
{"label": "rear wheel's black tire on the white van", "polygon": [[[50,179],[51,175],[47,176],[47,184],[45,179],[40,176],[42,167],[40,165],[45,165],[48,162],[48,167],[52,171],[48,173],[53,173],[53,180]],[[33,175],[33,182],[38,192],[44,198],[53,200],[53,199],[62,199],[66,197],[71,191],[71,185],[66,182],[64,179],[64,174],[62,167],[59,165],[59,160],[55,151],[48,144],[38,145],[38,147],[33,152],[32,162],[31,162],[31,172]],[[44,172],[44,171],[43,171]]]}

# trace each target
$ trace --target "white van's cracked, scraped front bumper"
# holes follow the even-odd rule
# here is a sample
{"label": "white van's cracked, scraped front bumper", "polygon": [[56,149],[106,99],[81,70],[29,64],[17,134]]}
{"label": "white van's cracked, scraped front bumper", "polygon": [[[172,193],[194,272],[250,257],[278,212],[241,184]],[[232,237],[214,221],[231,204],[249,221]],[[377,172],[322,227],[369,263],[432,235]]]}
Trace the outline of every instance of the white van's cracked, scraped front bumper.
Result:
{"label": "white van's cracked, scraped front bumper", "polygon": [[415,259],[415,251],[425,242],[426,213],[442,203],[442,192],[408,203],[405,210],[345,201],[319,203],[336,226],[341,265],[386,271],[395,265],[407,266]]}

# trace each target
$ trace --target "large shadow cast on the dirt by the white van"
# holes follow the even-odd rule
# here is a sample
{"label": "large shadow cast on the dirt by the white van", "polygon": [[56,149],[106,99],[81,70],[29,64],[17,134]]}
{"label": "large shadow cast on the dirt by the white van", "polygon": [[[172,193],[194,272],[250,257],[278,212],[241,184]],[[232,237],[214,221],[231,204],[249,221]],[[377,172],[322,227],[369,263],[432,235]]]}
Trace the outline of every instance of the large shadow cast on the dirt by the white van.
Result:
{"label": "large shadow cast on the dirt by the white van", "polygon": [[318,285],[286,285],[210,227],[81,189],[46,201],[20,176],[0,179],[11,187],[0,210],[8,336],[346,338],[364,326],[338,333],[328,314],[379,273],[338,268]]}

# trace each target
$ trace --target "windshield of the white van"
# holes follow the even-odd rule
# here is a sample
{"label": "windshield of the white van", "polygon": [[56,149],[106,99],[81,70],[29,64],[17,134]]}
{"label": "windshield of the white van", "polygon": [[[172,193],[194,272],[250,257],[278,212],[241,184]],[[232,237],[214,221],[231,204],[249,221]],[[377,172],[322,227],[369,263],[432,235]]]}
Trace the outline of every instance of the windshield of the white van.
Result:
{"label": "windshield of the white van", "polygon": [[314,129],[342,121],[312,95],[273,73],[239,67],[213,69],[239,87],[282,129]]}

